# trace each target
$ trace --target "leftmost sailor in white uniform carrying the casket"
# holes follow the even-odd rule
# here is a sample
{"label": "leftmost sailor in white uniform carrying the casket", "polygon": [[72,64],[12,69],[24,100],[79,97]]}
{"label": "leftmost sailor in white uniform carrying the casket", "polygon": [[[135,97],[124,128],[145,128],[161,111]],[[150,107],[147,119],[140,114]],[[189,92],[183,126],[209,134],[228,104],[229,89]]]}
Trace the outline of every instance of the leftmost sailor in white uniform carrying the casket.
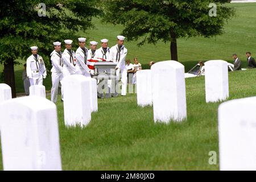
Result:
{"label": "leftmost sailor in white uniform carrying the casket", "polygon": [[[63,80],[63,59],[61,53],[61,43],[53,42],[55,50],[51,53],[52,63],[52,89],[51,89],[51,101],[57,102],[57,94],[59,89],[59,83]],[[61,99],[63,100],[63,88],[61,86]]]}

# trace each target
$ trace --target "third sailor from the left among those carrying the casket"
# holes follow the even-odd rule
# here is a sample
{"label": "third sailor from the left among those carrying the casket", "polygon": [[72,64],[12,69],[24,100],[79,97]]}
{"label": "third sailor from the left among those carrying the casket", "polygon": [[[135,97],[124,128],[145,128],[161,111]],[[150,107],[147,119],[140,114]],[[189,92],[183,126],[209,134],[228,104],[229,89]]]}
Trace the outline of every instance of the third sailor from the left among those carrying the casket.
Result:
{"label": "third sailor from the left among those carrying the casket", "polygon": [[88,57],[88,49],[85,47],[86,38],[79,38],[79,48],[76,50],[76,74],[90,77],[90,69],[86,62]]}

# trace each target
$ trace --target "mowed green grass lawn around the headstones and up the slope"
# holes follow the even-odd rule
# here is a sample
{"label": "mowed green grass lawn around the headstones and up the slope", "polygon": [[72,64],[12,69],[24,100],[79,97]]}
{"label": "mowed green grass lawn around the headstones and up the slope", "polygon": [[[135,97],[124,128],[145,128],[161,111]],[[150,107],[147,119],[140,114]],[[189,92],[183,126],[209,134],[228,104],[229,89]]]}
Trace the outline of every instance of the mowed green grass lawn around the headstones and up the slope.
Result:
{"label": "mowed green grass lawn around the headstones and up the slope", "polygon": [[[178,40],[179,60],[186,71],[199,60],[222,59],[232,63],[237,53],[246,68],[245,52],[255,50],[256,3],[236,3],[237,16],[225,26],[225,34],[216,38]],[[122,26],[102,24],[80,32],[90,40],[102,38],[115,44]],[[138,57],[147,69],[150,60],[170,60],[169,44],[136,46],[126,42],[127,59]],[[254,55],[253,55],[254,56]],[[15,67],[18,92],[22,91],[20,65]],[[256,95],[256,69],[229,73],[229,100]],[[51,78],[45,81],[51,88]],[[209,151],[218,154],[217,109],[220,103],[206,104],[204,77],[186,78],[187,121],[154,123],[152,107],[138,107],[136,94],[98,100],[98,112],[84,129],[64,126],[63,103],[57,102],[61,160],[64,170],[218,170],[210,165]],[[171,94],[171,93],[170,93]],[[245,113],[246,114],[246,113]],[[1,155],[1,152],[0,152]],[[218,155],[217,155],[218,158]],[[2,157],[0,158],[2,169]]]}

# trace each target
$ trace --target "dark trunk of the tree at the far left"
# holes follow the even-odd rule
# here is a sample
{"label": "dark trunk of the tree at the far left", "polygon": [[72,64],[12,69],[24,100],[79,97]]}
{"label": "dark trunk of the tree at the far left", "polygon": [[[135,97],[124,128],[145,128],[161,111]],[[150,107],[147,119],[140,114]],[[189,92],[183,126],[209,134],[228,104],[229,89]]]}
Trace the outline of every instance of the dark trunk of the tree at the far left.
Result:
{"label": "dark trunk of the tree at the far left", "polygon": [[5,83],[11,87],[11,95],[13,98],[16,97],[16,88],[15,88],[15,77],[14,77],[14,60],[7,60],[7,63],[4,64],[4,75]]}

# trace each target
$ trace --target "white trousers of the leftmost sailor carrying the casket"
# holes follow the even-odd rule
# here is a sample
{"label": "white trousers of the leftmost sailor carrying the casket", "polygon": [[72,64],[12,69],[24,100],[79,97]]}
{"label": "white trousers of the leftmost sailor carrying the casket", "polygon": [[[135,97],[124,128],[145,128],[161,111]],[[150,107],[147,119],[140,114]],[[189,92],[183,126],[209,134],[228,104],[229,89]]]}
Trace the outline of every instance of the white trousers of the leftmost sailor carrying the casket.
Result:
{"label": "white trousers of the leftmost sailor carrying the casket", "polygon": [[[52,72],[52,89],[51,89],[51,101],[56,103],[59,83],[63,80],[63,73]],[[63,86],[61,86],[61,100],[63,100]]]}

